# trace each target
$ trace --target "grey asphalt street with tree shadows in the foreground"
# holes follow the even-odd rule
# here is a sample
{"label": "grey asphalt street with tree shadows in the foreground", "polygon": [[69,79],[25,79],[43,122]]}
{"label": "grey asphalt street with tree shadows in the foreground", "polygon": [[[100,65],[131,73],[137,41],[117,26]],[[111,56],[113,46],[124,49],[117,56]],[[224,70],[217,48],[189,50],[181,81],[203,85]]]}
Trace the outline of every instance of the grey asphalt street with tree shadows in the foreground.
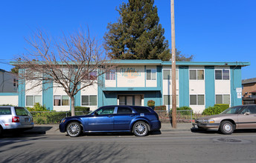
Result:
{"label": "grey asphalt street with tree shadows in the foreground", "polygon": [[0,139],[0,162],[256,162],[255,130],[129,133],[22,133]]}

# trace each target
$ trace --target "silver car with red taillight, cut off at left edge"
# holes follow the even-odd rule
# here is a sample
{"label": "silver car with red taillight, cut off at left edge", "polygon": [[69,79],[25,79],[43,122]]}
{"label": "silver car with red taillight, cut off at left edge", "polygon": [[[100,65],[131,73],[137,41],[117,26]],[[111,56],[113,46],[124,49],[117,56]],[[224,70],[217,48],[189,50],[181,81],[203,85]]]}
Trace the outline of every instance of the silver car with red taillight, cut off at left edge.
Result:
{"label": "silver car with red taillight, cut off at left edge", "polygon": [[24,107],[0,106],[0,135],[7,130],[29,130],[33,117]]}

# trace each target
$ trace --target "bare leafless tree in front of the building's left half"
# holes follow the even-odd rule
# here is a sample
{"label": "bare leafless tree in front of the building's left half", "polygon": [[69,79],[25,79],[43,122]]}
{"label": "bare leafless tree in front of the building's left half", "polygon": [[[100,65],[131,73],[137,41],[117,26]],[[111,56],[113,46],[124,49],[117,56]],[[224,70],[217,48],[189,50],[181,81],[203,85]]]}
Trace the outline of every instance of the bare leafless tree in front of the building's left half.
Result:
{"label": "bare leafless tree in front of the building's left half", "polygon": [[[26,41],[30,45],[28,53],[16,57],[16,66],[25,69],[19,78],[33,82],[30,89],[43,83],[63,87],[71,99],[71,116],[74,116],[74,96],[85,87],[100,84],[99,76],[115,67],[89,30],[85,32],[81,28],[68,36],[63,33],[57,39],[36,30]],[[42,90],[49,88],[42,87]]]}

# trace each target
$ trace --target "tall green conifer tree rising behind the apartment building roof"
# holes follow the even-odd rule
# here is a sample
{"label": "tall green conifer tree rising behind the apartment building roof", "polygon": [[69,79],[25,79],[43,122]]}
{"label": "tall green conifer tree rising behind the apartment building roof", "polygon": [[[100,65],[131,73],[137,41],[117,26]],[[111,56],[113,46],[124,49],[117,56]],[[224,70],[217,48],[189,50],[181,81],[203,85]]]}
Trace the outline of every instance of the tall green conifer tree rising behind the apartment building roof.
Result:
{"label": "tall green conifer tree rising behind the apartment building roof", "polygon": [[[153,4],[154,0],[129,0],[120,5],[118,22],[109,23],[104,36],[111,59],[170,60],[168,41]],[[182,57],[178,55],[177,60]]]}

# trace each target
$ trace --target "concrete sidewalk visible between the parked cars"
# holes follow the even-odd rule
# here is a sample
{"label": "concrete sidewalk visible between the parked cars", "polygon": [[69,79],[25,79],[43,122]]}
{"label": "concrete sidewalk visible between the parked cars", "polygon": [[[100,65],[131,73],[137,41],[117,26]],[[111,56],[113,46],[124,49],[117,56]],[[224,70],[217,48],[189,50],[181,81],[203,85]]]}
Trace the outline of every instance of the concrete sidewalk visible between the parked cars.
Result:
{"label": "concrete sidewalk visible between the parked cars", "polygon": [[[171,124],[161,124],[161,132],[168,131],[185,131],[191,130],[191,123],[177,124],[176,128],[173,128]],[[59,124],[35,124],[33,129],[25,131],[25,133],[32,134],[49,134],[49,135],[60,135]]]}

